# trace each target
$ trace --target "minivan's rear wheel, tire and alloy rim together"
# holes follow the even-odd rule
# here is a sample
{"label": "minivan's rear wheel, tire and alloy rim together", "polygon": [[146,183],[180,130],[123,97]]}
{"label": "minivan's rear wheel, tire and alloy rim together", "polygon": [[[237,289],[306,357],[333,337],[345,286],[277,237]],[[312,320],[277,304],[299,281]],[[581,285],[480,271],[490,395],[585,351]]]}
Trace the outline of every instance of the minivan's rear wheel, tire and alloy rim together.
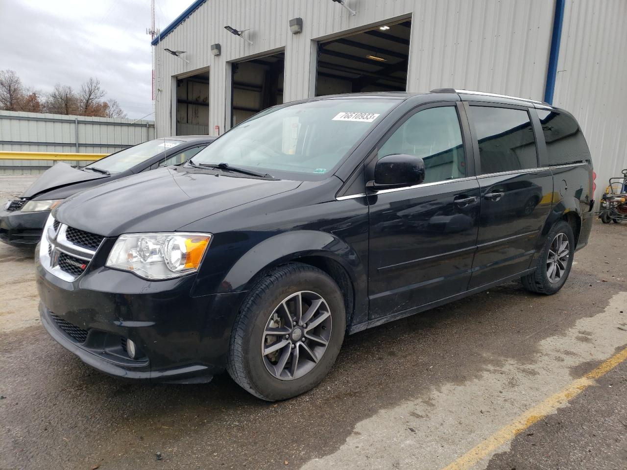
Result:
{"label": "minivan's rear wheel, tire and alloy rim together", "polygon": [[552,295],[559,291],[571,273],[575,240],[571,226],[557,222],[549,231],[535,271],[520,278],[528,291]]}

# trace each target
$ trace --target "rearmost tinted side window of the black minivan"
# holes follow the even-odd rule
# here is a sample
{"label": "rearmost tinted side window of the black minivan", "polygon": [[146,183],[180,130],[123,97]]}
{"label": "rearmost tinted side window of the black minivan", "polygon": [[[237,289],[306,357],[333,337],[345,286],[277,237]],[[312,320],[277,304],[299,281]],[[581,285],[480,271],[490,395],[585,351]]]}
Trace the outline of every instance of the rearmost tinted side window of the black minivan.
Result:
{"label": "rearmost tinted side window of the black minivan", "polygon": [[549,165],[567,165],[590,159],[586,139],[576,120],[554,111],[537,112],[547,144]]}

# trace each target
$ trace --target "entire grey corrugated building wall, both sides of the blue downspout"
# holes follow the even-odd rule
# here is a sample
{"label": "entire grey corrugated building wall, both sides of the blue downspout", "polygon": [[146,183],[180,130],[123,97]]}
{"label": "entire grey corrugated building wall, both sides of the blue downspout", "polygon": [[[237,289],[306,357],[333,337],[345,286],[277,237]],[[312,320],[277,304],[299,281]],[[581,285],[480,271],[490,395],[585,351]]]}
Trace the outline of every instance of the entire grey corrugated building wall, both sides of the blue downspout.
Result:
{"label": "entire grey corrugated building wall, both sides of the blue downspout", "polygon": [[[171,133],[172,76],[210,67],[209,130],[228,127],[229,61],[285,50],[285,102],[314,94],[315,41],[401,18],[412,19],[408,90],[453,86],[542,100],[551,46],[551,0],[208,0],[161,43],[157,55],[157,135]],[[303,19],[291,34],[288,21]],[[246,44],[224,29],[251,29]],[[210,46],[220,43],[221,56]],[[554,104],[574,113],[598,173],[627,167],[627,1],[567,0]],[[187,51],[185,58],[163,48]]]}

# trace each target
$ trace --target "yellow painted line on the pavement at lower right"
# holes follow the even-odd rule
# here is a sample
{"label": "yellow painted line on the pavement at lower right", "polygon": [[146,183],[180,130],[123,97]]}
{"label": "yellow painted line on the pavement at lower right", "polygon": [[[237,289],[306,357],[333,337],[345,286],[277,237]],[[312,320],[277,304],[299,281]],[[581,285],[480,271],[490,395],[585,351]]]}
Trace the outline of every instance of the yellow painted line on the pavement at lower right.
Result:
{"label": "yellow painted line on the pavement at lower right", "polygon": [[535,407],[525,411],[514,421],[510,422],[510,424],[502,427],[500,430],[492,434],[492,436],[485,439],[485,441],[478,444],[478,446],[473,447],[473,449],[470,449],[470,451],[463,454],[463,456],[456,459],[456,461],[451,462],[451,464],[444,467],[443,470],[469,469],[473,465],[480,462],[483,458],[496,451],[498,447],[514,439],[514,437],[518,436],[535,422],[538,422],[545,416],[554,413],[557,408],[579,395],[583,390],[586,390],[587,387],[594,385],[596,383],[595,379],[599,379],[599,377],[602,377],[626,359],[627,348],[623,349],[618,354],[613,355],[611,358],[599,365],[599,367],[586,373],[586,375],[581,377],[581,379],[575,380],[560,392],[557,392],[555,395],[545,399]]}

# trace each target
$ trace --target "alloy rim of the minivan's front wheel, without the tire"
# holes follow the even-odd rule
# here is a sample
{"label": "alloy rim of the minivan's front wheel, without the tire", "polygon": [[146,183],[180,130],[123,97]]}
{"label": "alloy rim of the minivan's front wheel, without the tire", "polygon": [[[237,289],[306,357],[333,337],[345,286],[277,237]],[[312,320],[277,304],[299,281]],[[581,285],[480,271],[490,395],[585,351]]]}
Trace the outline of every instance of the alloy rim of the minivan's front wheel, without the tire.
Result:
{"label": "alloy rim of the minivan's front wheel, without the tire", "polygon": [[332,318],[321,295],[300,291],[272,311],[261,338],[261,355],[268,372],[294,380],[310,372],[329,345]]}

